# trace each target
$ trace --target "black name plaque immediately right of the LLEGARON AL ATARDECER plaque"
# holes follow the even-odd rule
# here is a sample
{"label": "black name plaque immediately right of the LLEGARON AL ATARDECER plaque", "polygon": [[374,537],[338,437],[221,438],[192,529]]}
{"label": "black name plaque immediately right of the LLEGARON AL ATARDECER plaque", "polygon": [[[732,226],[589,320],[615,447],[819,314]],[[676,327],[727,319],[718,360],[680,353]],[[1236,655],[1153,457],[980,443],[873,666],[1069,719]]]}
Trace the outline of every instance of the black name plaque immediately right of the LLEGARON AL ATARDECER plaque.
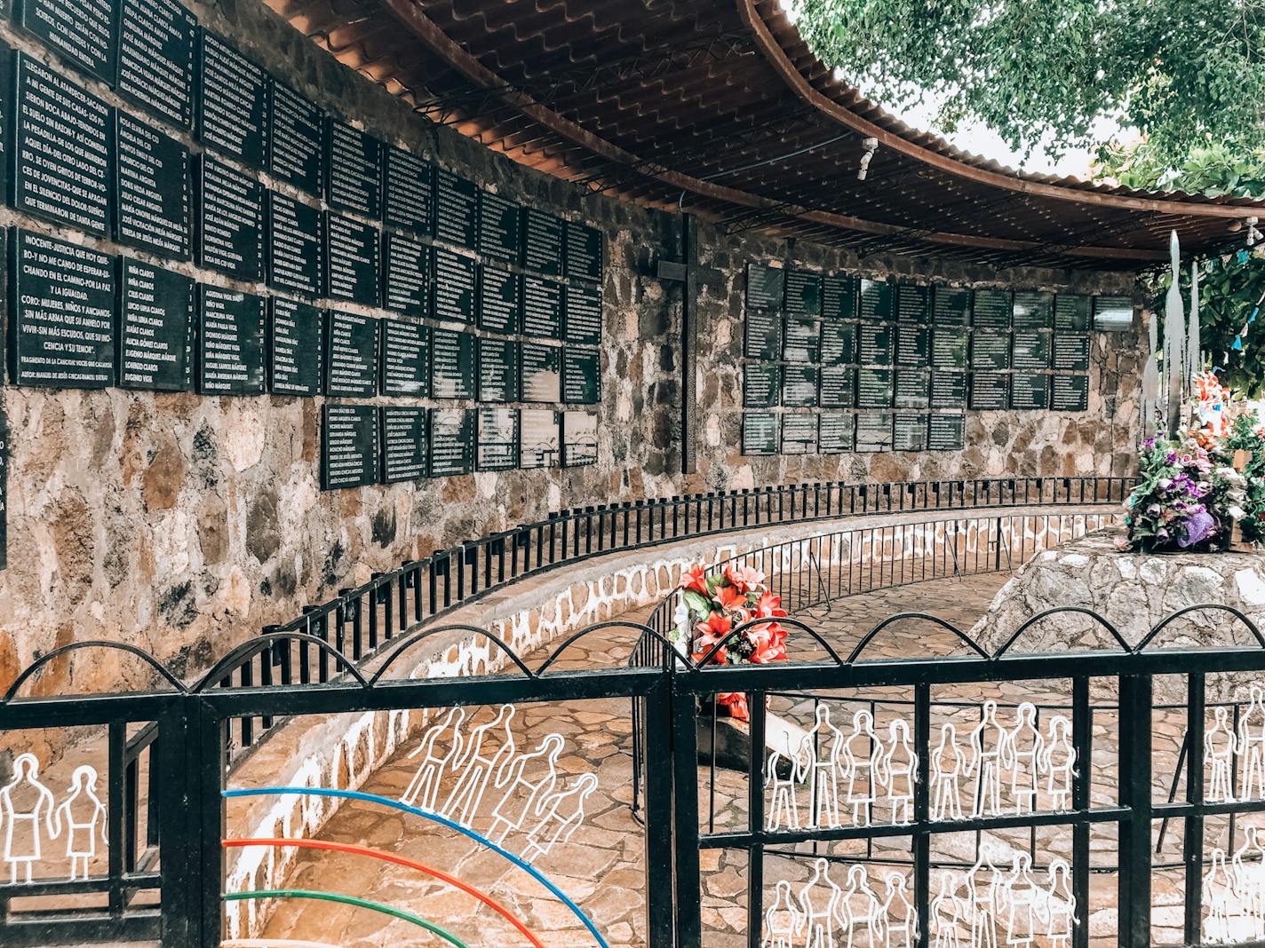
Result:
{"label": "black name plaque immediately right of the LLEGARON AL ATARDECER plaque", "polygon": [[192,240],[188,182],[185,145],[115,110],[115,240],[187,260]]}

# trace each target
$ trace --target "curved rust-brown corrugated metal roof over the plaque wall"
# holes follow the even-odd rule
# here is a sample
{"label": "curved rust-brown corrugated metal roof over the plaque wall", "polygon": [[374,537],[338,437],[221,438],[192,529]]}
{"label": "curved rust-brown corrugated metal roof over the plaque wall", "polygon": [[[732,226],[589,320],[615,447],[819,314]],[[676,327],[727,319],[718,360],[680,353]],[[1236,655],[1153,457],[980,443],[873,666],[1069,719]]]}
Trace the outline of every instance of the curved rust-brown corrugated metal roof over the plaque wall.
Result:
{"label": "curved rust-brown corrugated metal roof over the plaque wall", "polygon": [[[1140,269],[1265,205],[1030,174],[834,78],[777,0],[267,0],[343,63],[524,164],[649,206],[854,248]],[[865,181],[867,138],[879,144]],[[1265,215],[1262,215],[1265,216]]]}

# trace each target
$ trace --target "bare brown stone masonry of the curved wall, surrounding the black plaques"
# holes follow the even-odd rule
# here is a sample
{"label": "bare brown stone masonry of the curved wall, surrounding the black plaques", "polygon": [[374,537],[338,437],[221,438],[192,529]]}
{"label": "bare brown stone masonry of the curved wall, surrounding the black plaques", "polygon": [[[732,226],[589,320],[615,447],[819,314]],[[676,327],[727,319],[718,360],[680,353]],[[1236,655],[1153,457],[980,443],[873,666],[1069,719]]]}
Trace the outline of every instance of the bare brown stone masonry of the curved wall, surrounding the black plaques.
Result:
{"label": "bare brown stone masonry of the curved wall, surrounding the black plaques", "polygon": [[[740,458],[739,356],[749,260],[1050,288],[1069,286],[1069,278],[899,258],[855,260],[842,252],[725,235],[705,225],[702,264],[719,268],[721,278],[698,300],[701,463],[698,475],[681,477],[682,298],[678,287],[653,276],[658,259],[679,257],[674,215],[526,169],[424,120],[404,100],[336,63],[261,0],[188,5],[204,25],[367,131],[483,187],[606,233],[598,464],[321,493],[321,398],[6,387],[13,447],[9,568],[0,573],[0,688],[40,653],[86,638],[129,641],[178,674],[192,674],[261,626],[283,622],[304,604],[367,580],[373,570],[560,507],[824,478],[1122,473],[1130,464],[1127,451],[1116,449],[1131,442],[1136,417],[1140,355],[1132,334],[1095,336],[1088,413],[970,413],[969,447],[960,455]],[[0,37],[57,66],[53,53],[8,25],[0,25]],[[104,85],[75,81],[120,104]],[[268,187],[288,191],[262,177]],[[0,226],[9,225],[158,262],[0,209]],[[173,269],[258,289],[192,264]],[[1070,286],[1109,292],[1132,284],[1117,274]],[[30,690],[140,684],[132,678],[134,667],[101,653],[78,664],[61,661]]]}

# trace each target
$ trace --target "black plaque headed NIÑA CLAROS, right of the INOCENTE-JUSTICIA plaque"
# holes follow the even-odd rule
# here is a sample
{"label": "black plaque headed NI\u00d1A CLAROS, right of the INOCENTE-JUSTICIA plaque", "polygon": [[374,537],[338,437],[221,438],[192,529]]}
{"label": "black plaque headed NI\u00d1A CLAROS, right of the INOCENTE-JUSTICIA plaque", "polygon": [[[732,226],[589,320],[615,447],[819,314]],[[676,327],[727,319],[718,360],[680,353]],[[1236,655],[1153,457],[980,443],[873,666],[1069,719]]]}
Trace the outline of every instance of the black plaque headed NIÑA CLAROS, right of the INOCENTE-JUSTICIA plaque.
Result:
{"label": "black plaque headed NI\u00d1A CLAROS, right of the INOCENTE-JUSTICIA plaque", "polygon": [[119,269],[120,388],[194,388],[194,281],[124,258]]}

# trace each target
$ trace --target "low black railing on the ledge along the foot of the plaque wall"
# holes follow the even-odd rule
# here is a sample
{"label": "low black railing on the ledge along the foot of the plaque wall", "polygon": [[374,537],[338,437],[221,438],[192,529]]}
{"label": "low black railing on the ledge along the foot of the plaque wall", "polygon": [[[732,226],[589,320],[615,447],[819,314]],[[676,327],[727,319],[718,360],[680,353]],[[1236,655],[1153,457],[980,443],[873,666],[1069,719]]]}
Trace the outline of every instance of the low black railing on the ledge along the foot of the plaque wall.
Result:
{"label": "low black railing on the ledge along the foot of the plaque wall", "polygon": [[[464,542],[376,574],[339,590],[290,622],[267,626],[235,652],[211,686],[252,688],[325,683],[334,674],[328,653],[314,647],[278,652],[269,638],[305,633],[363,661],[453,609],[510,583],[592,556],[648,549],[691,537],[762,526],[810,523],[855,514],[955,511],[1023,506],[1118,506],[1133,478],[984,478],[907,483],[827,482],[596,504]],[[243,720],[230,757],[237,758],[272,727]]]}

